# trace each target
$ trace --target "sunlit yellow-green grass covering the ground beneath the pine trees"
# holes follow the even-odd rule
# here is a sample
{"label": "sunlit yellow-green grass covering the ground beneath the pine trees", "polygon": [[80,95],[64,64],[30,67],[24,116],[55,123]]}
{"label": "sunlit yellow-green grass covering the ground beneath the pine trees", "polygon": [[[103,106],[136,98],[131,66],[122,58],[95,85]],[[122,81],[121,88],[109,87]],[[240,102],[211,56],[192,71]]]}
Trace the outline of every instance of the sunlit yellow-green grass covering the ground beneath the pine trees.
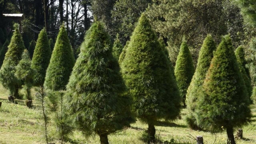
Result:
{"label": "sunlit yellow-green grass covering the ground beneath the pine trees", "polygon": [[[43,131],[43,118],[39,106],[29,109],[24,101],[17,101],[18,104],[7,102],[8,92],[0,86],[0,144],[45,144]],[[35,103],[36,104],[36,103]],[[256,108],[252,106],[254,117],[252,123],[243,127],[245,139],[237,139],[237,144],[256,143]],[[174,141],[176,144],[194,144],[195,140],[189,137],[202,135],[205,144],[213,144],[215,135],[208,132],[194,131],[187,128],[184,121],[186,110],[182,110],[182,118],[176,121],[159,121],[156,126],[157,138],[162,141]],[[55,127],[49,123],[49,136],[55,133]],[[142,135],[145,134],[146,124],[139,121],[132,124],[131,128],[109,136],[110,144],[145,144]],[[235,130],[236,133],[237,130]],[[215,144],[226,143],[226,133],[218,133]],[[84,137],[79,131],[70,136],[78,144],[99,144],[99,137],[93,135]],[[51,142],[60,142],[52,139]],[[174,144],[175,144],[174,143]],[[70,143],[67,143],[70,144]]]}

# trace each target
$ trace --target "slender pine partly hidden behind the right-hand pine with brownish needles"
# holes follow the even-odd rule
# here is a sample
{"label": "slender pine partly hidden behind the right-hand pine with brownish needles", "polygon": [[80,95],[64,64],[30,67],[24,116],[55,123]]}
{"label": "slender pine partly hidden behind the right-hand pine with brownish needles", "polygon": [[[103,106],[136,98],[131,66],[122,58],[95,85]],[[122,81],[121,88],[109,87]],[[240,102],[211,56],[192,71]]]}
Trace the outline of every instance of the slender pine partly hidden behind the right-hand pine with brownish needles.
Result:
{"label": "slender pine partly hidden behind the right-hand pine with brownish needles", "polygon": [[203,45],[199,52],[197,68],[191,80],[190,86],[187,90],[186,103],[189,114],[187,114],[186,121],[190,128],[198,129],[196,117],[194,111],[197,105],[198,91],[203,85],[207,70],[210,66],[210,61],[213,58],[213,51],[216,49],[216,45],[211,35],[207,35],[204,39]]}

